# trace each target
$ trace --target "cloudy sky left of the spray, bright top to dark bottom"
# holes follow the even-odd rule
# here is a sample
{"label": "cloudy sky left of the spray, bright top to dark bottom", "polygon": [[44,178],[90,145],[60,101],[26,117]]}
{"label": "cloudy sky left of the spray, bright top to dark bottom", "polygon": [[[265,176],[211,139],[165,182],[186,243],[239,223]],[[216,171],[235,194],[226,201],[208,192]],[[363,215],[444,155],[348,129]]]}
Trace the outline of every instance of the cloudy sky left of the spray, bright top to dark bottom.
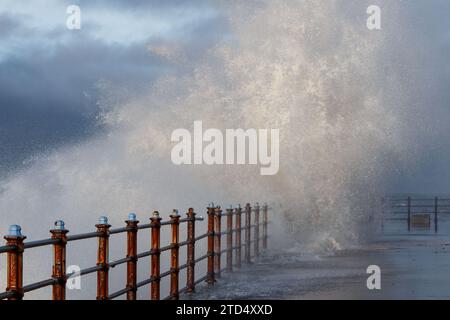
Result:
{"label": "cloudy sky left of the spray, bright top to dark bottom", "polygon": [[[71,4],[80,30],[66,27]],[[152,48],[181,43],[195,58],[224,28],[207,1],[1,0],[0,176],[101,130],[105,87],[125,98],[182,72]]]}

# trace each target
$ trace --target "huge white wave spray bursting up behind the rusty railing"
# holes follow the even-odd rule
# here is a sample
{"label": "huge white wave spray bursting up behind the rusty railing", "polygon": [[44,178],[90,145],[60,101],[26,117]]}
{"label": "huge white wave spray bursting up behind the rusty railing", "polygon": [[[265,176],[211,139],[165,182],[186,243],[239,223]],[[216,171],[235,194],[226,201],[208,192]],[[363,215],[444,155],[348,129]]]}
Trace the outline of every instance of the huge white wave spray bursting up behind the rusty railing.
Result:
{"label": "huge white wave spray bursting up behind the rusty railing", "polygon": [[[77,233],[92,230],[100,215],[122,226],[129,212],[146,221],[155,209],[166,218],[173,208],[203,214],[211,201],[267,201],[283,232],[303,243],[345,247],[361,239],[367,200],[384,192],[389,169],[409,148],[401,91],[382,84],[386,43],[366,28],[368,5],[218,6],[230,32],[200,63],[190,65],[173,43],[147,48],[192,72],[161,78],[127,103],[107,97],[99,115],[106,134],[61,148],[2,184],[2,234],[13,223],[37,239],[56,219]],[[384,95],[387,85],[395,100]],[[192,130],[195,120],[205,129],[280,129],[279,174],[260,176],[259,166],[248,165],[174,166],[171,133]],[[86,259],[72,254],[71,263]]]}

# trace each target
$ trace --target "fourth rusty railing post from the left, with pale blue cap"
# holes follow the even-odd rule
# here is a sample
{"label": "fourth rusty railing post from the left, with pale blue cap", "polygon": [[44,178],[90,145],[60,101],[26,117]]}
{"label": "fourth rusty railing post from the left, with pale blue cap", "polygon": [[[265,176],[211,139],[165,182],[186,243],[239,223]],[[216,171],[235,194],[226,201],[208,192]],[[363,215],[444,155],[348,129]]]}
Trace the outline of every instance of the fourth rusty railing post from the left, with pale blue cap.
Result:
{"label": "fourth rusty railing post from the left, with pale blue cap", "polygon": [[130,213],[127,224],[127,300],[136,300],[137,293],[137,232],[138,223],[136,214]]}

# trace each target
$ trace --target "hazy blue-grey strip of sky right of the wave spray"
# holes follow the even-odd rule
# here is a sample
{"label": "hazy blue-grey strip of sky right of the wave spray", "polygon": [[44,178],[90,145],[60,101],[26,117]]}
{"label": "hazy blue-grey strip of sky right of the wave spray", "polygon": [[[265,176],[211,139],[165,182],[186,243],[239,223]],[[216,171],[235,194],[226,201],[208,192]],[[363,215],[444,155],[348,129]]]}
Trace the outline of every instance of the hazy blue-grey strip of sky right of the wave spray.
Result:
{"label": "hazy blue-grey strip of sky right of the wave spray", "polygon": [[[418,157],[390,179],[390,190],[404,193],[450,191],[450,2],[401,1],[403,32],[393,41],[392,60],[410,95],[405,119]],[[394,56],[395,55],[395,56]],[[407,60],[412,57],[412,60]]]}

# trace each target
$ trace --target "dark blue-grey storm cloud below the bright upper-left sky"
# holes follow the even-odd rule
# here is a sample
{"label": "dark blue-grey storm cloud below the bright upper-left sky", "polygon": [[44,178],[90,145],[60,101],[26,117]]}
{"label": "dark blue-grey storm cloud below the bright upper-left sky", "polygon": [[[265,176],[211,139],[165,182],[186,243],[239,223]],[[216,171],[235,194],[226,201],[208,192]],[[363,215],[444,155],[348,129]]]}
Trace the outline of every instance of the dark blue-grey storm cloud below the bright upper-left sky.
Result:
{"label": "dark blue-grey storm cloud below the bright upper-left sky", "polygon": [[[75,49],[76,48],[76,49]],[[138,91],[164,61],[135,45],[71,41],[48,54],[36,49],[0,64],[0,163],[20,167],[36,151],[86,137],[97,128],[96,83],[105,79]],[[1,171],[1,169],[0,169]]]}

